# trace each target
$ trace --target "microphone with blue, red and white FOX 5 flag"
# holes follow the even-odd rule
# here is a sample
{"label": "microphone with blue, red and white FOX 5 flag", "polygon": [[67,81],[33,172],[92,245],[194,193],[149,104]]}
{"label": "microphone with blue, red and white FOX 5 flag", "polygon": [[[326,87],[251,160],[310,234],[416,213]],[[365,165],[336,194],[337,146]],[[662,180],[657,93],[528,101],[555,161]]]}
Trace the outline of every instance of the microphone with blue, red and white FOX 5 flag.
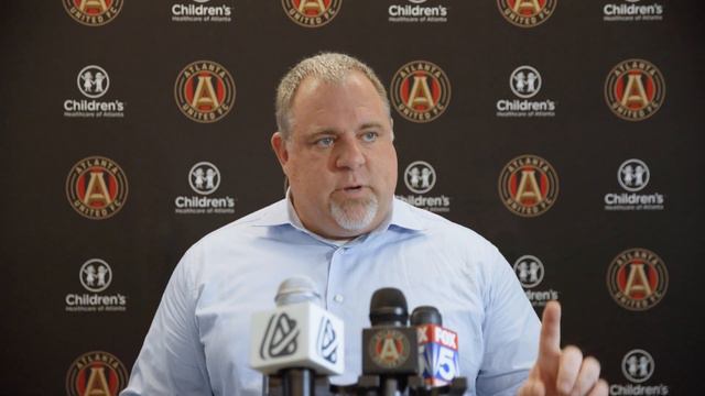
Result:
{"label": "microphone with blue, red and white FOX 5 flag", "polygon": [[419,364],[424,384],[449,385],[459,373],[458,334],[443,328],[441,312],[435,307],[416,307],[411,326],[419,336]]}

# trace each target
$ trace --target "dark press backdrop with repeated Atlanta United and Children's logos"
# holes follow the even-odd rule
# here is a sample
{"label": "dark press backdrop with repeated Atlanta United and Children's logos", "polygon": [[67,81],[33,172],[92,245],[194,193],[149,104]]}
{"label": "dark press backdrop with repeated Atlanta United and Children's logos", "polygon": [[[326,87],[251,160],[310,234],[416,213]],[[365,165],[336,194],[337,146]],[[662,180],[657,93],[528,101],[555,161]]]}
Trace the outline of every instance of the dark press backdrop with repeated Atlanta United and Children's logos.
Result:
{"label": "dark press backdrop with repeated Atlanta United and Children's logos", "polygon": [[611,395],[697,393],[704,10],[6,1],[0,394],[126,385],[184,251],[283,196],[274,89],[321,51],[388,87],[397,195],[497,244],[539,314],[558,299]]}

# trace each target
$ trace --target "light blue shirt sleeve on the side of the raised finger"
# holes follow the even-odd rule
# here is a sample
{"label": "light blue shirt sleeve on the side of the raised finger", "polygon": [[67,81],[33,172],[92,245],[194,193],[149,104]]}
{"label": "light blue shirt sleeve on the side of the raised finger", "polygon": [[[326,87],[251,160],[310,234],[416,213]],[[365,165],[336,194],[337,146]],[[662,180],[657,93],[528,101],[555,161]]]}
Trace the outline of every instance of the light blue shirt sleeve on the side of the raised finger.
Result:
{"label": "light blue shirt sleeve on the side of the raised finger", "polygon": [[477,395],[517,395],[539,351],[541,322],[505,257],[497,252],[485,296],[485,354]]}

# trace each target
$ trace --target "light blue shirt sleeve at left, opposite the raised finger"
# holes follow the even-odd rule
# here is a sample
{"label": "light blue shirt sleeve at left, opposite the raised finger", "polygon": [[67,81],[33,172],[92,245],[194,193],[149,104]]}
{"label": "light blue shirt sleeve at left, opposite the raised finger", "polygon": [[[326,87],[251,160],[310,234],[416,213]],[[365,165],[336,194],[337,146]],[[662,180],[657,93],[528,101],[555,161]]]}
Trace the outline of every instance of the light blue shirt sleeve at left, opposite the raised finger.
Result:
{"label": "light blue shirt sleeve at left, opposite the raised finger", "polygon": [[192,249],[174,270],[120,396],[213,395],[196,324],[198,292],[188,273],[193,256]]}

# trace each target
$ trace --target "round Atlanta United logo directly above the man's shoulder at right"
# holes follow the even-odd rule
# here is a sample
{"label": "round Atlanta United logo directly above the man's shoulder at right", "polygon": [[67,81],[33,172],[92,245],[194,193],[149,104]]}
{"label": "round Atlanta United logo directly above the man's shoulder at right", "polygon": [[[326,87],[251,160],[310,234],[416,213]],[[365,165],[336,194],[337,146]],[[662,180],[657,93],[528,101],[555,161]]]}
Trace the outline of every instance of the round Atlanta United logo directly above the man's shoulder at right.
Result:
{"label": "round Atlanta United logo directly above the man's shoulder at right", "polygon": [[558,176],[547,161],[531,154],[510,161],[499,176],[499,196],[511,212],[543,215],[558,196]]}

